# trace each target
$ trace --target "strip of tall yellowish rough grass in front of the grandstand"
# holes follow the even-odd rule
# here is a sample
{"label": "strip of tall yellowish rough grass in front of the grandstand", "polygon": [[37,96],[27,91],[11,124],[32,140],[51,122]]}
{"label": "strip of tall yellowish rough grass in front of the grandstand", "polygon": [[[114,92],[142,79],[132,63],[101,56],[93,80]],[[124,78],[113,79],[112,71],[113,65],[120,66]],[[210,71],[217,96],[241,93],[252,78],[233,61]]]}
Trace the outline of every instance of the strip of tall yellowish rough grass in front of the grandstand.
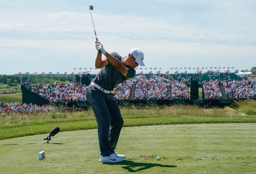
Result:
{"label": "strip of tall yellowish rough grass in front of the grandstand", "polygon": [[[124,118],[143,117],[232,117],[232,116],[255,116],[256,101],[238,101],[232,107],[204,109],[199,106],[175,104],[175,105],[122,105],[121,114]],[[40,122],[51,122],[53,120],[90,120],[95,119],[92,109],[85,110],[65,110],[55,108],[53,112],[47,113],[10,113],[0,116],[0,126],[30,124]]]}

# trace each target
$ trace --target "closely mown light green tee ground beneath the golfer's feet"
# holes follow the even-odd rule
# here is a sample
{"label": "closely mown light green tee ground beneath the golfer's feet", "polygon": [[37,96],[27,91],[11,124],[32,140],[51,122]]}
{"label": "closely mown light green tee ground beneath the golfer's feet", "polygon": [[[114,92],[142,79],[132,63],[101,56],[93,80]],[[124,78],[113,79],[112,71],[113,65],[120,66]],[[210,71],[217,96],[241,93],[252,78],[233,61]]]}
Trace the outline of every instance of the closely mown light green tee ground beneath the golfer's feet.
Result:
{"label": "closely mown light green tee ground beneath the golfer's feet", "polygon": [[[98,162],[97,129],[60,132],[49,144],[0,146],[0,169],[1,173],[255,173],[255,128],[255,123],[124,127],[116,152],[126,159],[113,164]],[[47,135],[4,139],[0,145],[43,143]],[[38,160],[41,151],[46,158]]]}

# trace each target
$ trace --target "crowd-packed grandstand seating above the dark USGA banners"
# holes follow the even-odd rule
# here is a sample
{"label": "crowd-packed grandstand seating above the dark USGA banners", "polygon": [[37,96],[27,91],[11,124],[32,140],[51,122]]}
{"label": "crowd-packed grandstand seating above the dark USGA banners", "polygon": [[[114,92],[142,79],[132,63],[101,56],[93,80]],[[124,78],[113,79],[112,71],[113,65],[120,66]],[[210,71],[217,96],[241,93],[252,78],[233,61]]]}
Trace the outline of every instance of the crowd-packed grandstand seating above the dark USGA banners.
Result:
{"label": "crowd-packed grandstand seating above the dark USGA banners", "polygon": [[[176,75],[172,75],[171,78],[161,74],[137,75],[135,78],[117,85],[114,97],[117,101],[189,100],[189,78],[193,76],[203,85],[203,100],[256,99],[254,81],[244,80],[242,82],[241,80],[233,80],[228,82],[225,74],[220,74],[223,80],[217,78],[218,74],[212,74],[211,81],[210,76],[206,74],[181,74],[179,82],[175,80],[177,78]],[[237,78],[235,74],[232,74],[230,77]],[[201,81],[202,78],[206,80]],[[87,86],[80,83],[35,85],[25,83],[22,86],[26,89],[24,97],[22,97],[23,102],[33,104],[87,102]],[[25,97],[29,92],[33,94],[31,102],[27,100],[28,97]],[[36,96],[39,96],[41,99],[36,98]]]}

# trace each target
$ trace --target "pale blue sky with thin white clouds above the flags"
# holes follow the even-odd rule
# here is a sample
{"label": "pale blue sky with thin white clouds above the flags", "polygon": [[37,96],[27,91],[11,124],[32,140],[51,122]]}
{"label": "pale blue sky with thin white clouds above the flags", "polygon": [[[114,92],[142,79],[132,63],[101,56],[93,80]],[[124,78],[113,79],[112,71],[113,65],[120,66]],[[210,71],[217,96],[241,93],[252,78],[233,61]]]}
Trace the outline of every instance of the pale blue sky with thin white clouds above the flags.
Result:
{"label": "pale blue sky with thin white clouds above the flags", "polygon": [[9,0],[0,2],[0,74],[99,72],[89,5],[105,50],[141,49],[143,73],[256,66],[255,0]]}

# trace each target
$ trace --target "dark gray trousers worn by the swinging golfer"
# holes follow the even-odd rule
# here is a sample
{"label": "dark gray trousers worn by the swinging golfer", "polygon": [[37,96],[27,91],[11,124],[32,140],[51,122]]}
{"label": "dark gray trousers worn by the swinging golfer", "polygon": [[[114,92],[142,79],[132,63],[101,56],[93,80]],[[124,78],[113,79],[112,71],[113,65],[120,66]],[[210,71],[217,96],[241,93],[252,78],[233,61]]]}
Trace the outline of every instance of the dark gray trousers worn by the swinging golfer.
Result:
{"label": "dark gray trousers worn by the swinging golfer", "polygon": [[86,90],[86,98],[96,117],[100,154],[107,157],[115,152],[124,124],[118,103],[112,94],[106,94],[92,85]]}

